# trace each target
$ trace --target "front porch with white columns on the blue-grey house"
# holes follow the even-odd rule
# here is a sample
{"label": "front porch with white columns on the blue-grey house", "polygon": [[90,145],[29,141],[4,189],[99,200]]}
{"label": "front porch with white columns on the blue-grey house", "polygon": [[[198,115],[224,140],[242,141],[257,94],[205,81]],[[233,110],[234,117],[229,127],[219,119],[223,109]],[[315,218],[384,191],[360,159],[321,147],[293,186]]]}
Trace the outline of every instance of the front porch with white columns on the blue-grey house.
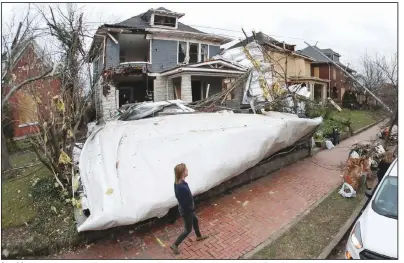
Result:
{"label": "front porch with white columns on the blue-grey house", "polygon": [[212,60],[162,72],[154,82],[154,101],[202,100],[222,92],[227,79],[246,72],[245,68],[224,60]]}

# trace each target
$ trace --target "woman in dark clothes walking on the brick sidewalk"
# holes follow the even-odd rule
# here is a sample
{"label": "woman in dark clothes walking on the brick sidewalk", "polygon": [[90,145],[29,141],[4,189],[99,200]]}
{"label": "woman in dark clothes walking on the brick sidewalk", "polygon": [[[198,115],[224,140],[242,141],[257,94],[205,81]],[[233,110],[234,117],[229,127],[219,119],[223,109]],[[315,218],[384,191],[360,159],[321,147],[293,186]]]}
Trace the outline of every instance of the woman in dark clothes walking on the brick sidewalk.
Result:
{"label": "woman in dark clothes walking on the brick sidewalk", "polygon": [[208,236],[202,236],[199,231],[198,218],[194,211],[194,199],[192,197],[191,190],[188,184],[185,182],[185,178],[188,176],[187,166],[183,163],[178,164],[174,168],[175,184],[174,192],[175,197],[178,200],[178,208],[182,218],[184,219],[185,229],[184,232],[177,238],[177,240],[170,246],[175,254],[179,254],[178,246],[184,241],[184,239],[191,233],[192,228],[196,234],[196,241],[201,241]]}

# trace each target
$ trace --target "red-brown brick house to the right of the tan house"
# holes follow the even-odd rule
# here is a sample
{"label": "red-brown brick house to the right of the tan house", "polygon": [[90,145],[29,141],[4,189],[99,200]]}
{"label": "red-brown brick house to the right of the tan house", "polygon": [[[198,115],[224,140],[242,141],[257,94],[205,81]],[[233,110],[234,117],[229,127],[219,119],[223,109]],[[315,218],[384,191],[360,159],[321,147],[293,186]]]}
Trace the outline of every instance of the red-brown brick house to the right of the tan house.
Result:
{"label": "red-brown brick house to the right of the tan house", "polygon": [[340,67],[344,68],[349,73],[354,73],[355,70],[340,62],[341,55],[332,49],[319,49],[317,47],[307,47],[301,51],[300,54],[312,57],[315,61],[311,63],[311,75],[313,77],[326,79],[329,81],[327,84],[327,97],[331,97],[335,102],[341,103],[342,96],[345,91],[351,89],[350,82],[346,81],[346,74],[319,54],[316,50],[320,50],[324,55],[337,63]]}

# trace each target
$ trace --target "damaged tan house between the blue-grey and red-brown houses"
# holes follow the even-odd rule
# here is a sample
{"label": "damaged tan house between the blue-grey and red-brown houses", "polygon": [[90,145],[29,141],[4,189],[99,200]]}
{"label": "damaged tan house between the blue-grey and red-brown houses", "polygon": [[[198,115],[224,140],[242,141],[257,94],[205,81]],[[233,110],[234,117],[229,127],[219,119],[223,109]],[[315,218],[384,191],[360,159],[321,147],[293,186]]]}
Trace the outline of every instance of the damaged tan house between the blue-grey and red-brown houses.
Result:
{"label": "damaged tan house between the blue-grey and red-brown houses", "polygon": [[[251,36],[229,49],[245,46],[252,41],[254,41],[254,37]],[[255,34],[255,41],[267,52],[268,56],[265,58],[267,62],[273,65],[274,80],[276,82],[280,85],[305,84],[311,91],[311,99],[325,102],[329,80],[321,76],[312,76],[311,63],[315,59],[296,52],[295,45],[277,41],[262,32]],[[287,83],[285,83],[285,73]]]}

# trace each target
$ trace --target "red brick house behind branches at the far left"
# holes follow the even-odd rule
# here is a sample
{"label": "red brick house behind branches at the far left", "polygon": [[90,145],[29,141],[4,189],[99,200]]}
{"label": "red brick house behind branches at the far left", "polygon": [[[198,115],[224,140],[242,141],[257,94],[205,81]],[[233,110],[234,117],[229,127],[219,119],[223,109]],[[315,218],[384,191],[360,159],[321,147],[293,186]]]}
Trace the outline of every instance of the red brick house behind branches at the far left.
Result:
{"label": "red brick house behind branches at the far left", "polygon": [[[46,58],[42,49],[35,41],[21,44],[15,52],[11,77],[14,83],[40,76],[46,69],[52,67],[52,63]],[[3,72],[3,77],[7,72]],[[2,87],[2,92],[7,93],[10,87]],[[45,79],[31,82],[9,99],[11,107],[12,125],[14,137],[24,138],[38,131],[38,114],[46,114],[46,105],[60,90],[60,82],[56,79]],[[40,112],[38,112],[38,110]]]}

